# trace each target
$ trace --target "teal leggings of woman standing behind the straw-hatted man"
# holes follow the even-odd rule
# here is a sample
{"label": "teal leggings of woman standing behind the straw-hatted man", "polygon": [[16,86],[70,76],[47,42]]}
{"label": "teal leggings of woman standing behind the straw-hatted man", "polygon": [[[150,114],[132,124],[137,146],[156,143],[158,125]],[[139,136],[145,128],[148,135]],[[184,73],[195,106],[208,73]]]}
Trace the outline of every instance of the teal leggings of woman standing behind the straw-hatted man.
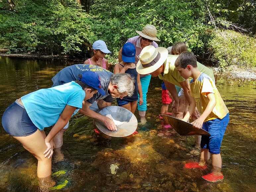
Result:
{"label": "teal leggings of woman standing behind the straw-hatted man", "polygon": [[138,110],[146,111],[147,110],[147,93],[149,89],[151,75],[141,77],[140,79],[141,79],[141,87],[142,87],[143,104],[140,105],[140,96],[138,94]]}

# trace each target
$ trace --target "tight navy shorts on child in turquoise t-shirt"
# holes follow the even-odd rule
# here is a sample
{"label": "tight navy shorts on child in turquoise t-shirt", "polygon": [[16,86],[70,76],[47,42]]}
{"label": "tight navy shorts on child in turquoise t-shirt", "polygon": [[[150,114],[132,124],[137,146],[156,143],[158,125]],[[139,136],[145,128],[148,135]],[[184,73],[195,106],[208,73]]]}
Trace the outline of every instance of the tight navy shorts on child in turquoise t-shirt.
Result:
{"label": "tight navy shorts on child in turquoise t-shirt", "polygon": [[36,132],[26,109],[17,100],[7,107],[2,116],[4,130],[11,136],[24,137]]}

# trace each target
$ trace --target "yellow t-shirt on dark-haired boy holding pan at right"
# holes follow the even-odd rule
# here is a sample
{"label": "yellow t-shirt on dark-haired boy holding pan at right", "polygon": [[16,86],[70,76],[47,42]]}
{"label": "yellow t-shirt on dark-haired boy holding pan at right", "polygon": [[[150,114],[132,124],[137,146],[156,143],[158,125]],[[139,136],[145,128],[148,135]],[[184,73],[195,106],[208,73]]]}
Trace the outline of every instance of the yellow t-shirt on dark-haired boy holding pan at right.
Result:
{"label": "yellow t-shirt on dark-haired boy holding pan at right", "polygon": [[204,73],[201,73],[199,77],[193,82],[190,81],[191,94],[196,100],[196,106],[198,111],[202,114],[209,103],[209,99],[206,93],[214,93],[216,99],[216,105],[213,111],[208,115],[205,121],[220,118],[223,119],[228,113],[228,109],[215,86],[213,80]]}

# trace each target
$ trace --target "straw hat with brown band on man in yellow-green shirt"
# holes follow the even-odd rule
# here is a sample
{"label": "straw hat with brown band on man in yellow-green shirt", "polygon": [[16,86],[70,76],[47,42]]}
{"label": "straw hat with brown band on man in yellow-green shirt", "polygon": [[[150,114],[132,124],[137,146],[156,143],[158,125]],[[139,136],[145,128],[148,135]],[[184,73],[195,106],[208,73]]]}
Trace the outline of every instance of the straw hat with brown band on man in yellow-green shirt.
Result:
{"label": "straw hat with brown band on man in yellow-green shirt", "polygon": [[155,48],[152,45],[144,47],[139,55],[136,70],[145,75],[156,71],[167,59],[168,50],[164,47]]}

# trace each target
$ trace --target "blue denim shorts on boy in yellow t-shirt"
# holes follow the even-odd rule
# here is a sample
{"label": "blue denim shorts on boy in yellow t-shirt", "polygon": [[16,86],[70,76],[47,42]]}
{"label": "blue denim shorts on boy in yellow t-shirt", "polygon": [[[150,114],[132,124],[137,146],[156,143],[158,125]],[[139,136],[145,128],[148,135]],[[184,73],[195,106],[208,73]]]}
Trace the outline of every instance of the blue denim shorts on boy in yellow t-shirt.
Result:
{"label": "blue denim shorts on boy in yellow t-shirt", "polygon": [[221,143],[227,124],[229,122],[229,113],[223,119],[213,119],[203,123],[203,129],[208,131],[211,136],[202,135],[201,148],[209,149],[211,154],[220,154]]}

